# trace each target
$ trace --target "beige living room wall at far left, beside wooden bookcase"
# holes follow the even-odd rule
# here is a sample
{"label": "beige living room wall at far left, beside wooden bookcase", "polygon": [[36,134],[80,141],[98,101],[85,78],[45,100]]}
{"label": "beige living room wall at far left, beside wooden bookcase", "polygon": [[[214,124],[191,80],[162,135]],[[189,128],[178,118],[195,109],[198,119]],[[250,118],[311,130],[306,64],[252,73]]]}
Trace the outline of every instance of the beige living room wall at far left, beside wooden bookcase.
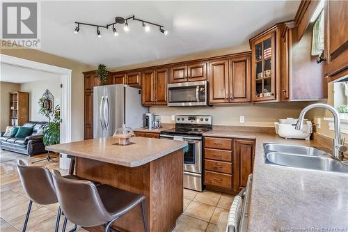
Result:
{"label": "beige living room wall at far left, beside wooden bookcase", "polygon": [[10,95],[8,93],[12,91],[19,91],[20,84],[10,83],[10,82],[0,82],[0,130],[6,129],[9,124],[10,117]]}

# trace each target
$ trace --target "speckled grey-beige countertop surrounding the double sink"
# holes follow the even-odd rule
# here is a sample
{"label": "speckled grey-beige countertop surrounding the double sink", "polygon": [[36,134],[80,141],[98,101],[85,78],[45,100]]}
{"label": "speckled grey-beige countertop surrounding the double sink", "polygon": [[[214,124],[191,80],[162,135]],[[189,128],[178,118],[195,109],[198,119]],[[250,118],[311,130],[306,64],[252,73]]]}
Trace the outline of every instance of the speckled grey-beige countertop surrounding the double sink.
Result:
{"label": "speckled grey-beige countertop surrounding the double sink", "polygon": [[256,138],[248,231],[348,230],[347,174],[264,163],[264,143],[304,146],[321,146],[320,144],[283,139],[274,133],[229,130],[228,127],[212,130],[204,135]]}

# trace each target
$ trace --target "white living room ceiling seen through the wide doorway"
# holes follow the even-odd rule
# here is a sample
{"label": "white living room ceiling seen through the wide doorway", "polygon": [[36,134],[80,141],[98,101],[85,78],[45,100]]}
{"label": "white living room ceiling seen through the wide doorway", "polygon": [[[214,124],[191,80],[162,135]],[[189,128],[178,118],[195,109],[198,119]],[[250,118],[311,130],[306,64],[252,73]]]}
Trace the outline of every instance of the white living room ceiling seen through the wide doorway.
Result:
{"label": "white living room ceiling seen through the wide doorway", "polygon": [[6,63],[0,63],[0,81],[12,83],[36,82],[42,79],[59,78],[60,76],[52,72],[33,70]]}

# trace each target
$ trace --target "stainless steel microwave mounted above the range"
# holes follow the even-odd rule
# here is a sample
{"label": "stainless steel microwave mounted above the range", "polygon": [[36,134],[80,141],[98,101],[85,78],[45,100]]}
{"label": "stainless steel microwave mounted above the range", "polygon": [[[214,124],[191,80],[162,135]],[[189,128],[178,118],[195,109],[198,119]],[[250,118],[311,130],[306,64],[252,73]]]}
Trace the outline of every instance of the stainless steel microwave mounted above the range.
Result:
{"label": "stainless steel microwave mounted above the range", "polygon": [[169,107],[208,105],[207,81],[168,84]]}

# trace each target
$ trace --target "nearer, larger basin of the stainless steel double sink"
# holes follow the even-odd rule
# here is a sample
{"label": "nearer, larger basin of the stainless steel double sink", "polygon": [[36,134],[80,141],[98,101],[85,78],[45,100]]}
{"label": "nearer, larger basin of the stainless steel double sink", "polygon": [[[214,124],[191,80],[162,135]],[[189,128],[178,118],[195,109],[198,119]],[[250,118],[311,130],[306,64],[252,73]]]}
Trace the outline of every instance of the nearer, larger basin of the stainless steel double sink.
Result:
{"label": "nearer, larger basin of the stainless steel double sink", "polygon": [[267,153],[266,162],[287,167],[314,169],[320,171],[338,171],[348,173],[348,166],[331,157],[312,155],[294,155],[285,153]]}

